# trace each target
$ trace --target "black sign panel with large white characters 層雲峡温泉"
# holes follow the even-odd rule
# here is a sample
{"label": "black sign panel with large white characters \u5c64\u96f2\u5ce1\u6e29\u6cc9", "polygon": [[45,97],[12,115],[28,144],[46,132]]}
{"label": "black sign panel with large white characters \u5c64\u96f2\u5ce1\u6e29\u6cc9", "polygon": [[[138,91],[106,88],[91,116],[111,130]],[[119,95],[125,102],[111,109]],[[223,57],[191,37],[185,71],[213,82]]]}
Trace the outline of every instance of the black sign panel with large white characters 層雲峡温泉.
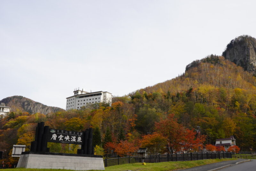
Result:
{"label": "black sign panel with large white characters \u5c64\u96f2\u5ce1\u6e29\u6cc9", "polygon": [[84,141],[83,132],[50,128],[47,134],[47,142],[52,142],[52,143],[84,144],[83,141]]}

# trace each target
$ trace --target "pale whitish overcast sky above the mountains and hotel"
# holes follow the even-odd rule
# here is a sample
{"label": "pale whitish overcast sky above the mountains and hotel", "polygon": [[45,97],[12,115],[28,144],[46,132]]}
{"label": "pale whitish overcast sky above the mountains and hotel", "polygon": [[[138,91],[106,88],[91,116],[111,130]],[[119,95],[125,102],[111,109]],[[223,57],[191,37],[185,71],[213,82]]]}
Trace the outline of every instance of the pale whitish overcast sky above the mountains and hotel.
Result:
{"label": "pale whitish overcast sky above the mountains and hotel", "polygon": [[74,88],[123,96],[175,78],[236,36],[255,1],[1,0],[0,100],[65,108]]}

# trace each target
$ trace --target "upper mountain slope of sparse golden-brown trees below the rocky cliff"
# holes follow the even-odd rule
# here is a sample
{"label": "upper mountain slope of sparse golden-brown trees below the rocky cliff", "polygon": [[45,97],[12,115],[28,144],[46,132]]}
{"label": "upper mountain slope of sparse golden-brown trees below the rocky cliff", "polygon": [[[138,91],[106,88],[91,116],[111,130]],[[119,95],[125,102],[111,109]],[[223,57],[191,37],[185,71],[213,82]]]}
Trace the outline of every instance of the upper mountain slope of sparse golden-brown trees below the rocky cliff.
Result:
{"label": "upper mountain slope of sparse golden-brown trees below the rocky cliff", "polygon": [[140,91],[153,93],[161,88],[164,92],[177,93],[188,90],[190,86],[197,88],[203,84],[255,90],[256,79],[251,73],[224,57],[211,55],[189,64],[184,74]]}

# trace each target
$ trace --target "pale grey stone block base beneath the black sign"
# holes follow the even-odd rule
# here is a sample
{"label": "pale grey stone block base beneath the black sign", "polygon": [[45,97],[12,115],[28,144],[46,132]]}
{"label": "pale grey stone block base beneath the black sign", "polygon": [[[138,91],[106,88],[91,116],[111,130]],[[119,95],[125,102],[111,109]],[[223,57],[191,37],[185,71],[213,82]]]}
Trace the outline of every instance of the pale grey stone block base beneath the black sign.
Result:
{"label": "pale grey stone block base beneath the black sign", "polygon": [[53,152],[22,152],[17,165],[23,168],[105,170],[102,156]]}

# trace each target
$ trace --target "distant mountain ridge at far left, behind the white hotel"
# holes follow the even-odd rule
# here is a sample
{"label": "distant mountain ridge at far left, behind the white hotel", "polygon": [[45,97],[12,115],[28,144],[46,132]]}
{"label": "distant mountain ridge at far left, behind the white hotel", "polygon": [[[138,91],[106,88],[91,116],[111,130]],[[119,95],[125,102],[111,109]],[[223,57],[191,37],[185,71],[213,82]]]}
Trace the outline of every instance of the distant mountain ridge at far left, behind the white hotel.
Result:
{"label": "distant mountain ridge at far left, behind the white hotel", "polygon": [[59,107],[47,106],[39,102],[35,102],[29,98],[23,96],[11,96],[6,97],[0,101],[1,103],[5,103],[6,106],[11,107],[11,111],[15,112],[16,110],[20,110],[21,112],[28,113],[52,113],[63,110]]}

